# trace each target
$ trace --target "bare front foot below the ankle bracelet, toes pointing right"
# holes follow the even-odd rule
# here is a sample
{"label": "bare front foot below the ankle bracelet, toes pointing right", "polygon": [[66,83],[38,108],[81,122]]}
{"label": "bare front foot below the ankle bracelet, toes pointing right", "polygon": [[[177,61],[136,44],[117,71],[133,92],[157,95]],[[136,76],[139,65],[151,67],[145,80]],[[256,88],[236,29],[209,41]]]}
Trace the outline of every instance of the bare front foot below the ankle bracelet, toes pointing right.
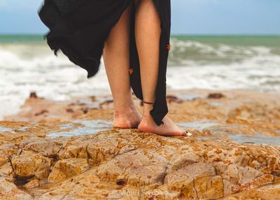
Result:
{"label": "bare front foot below the ankle bracelet, toes pointing right", "polygon": [[142,132],[152,132],[162,136],[188,136],[187,132],[177,126],[169,117],[165,116],[162,120],[164,124],[158,126],[153,121],[151,115],[142,118],[138,130]]}

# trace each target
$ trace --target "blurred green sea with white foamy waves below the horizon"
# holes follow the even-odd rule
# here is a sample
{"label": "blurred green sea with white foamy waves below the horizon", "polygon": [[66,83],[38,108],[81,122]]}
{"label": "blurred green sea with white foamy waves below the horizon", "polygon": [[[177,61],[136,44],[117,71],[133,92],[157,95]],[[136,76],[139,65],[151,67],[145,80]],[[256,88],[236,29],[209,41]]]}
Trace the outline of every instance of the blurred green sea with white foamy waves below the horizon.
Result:
{"label": "blurred green sea with white foamy waves below the horizon", "polygon": [[[280,92],[280,36],[172,36],[167,90]],[[41,35],[0,36],[0,120],[30,92],[64,101],[110,94],[104,63],[96,76],[56,57]]]}

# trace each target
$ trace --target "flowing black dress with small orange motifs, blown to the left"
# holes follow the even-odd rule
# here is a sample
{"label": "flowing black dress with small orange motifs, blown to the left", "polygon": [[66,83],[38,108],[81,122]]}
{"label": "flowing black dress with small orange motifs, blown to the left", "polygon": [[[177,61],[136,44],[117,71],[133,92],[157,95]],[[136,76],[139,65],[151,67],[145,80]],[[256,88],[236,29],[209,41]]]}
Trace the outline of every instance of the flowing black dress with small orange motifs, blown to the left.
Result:
{"label": "flowing black dress with small orange motifs, blown to the left", "polygon": [[[168,113],[166,101],[167,58],[170,50],[170,0],[151,0],[160,15],[160,66],[151,116],[156,124]],[[134,0],[45,0],[38,10],[42,22],[50,29],[45,35],[57,55],[62,50],[71,62],[87,71],[87,78],[99,70],[104,42],[111,28]],[[133,6],[135,11],[135,5]],[[135,17],[135,12],[133,12]],[[137,98],[143,100],[139,57],[134,38],[134,20],[130,31],[130,84]],[[121,81],[121,80],[120,80]]]}

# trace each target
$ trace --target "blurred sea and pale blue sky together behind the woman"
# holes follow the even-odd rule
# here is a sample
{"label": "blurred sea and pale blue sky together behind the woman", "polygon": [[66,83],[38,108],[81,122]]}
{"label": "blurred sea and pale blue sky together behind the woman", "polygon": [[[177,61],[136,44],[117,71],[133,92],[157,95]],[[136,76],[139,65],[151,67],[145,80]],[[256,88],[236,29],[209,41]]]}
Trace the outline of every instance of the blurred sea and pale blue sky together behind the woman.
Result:
{"label": "blurred sea and pale blue sky together behind the woman", "polygon": [[[39,97],[109,94],[96,76],[58,57],[43,41],[42,0],[0,0],[0,119]],[[279,0],[172,0],[167,90],[280,92]]]}

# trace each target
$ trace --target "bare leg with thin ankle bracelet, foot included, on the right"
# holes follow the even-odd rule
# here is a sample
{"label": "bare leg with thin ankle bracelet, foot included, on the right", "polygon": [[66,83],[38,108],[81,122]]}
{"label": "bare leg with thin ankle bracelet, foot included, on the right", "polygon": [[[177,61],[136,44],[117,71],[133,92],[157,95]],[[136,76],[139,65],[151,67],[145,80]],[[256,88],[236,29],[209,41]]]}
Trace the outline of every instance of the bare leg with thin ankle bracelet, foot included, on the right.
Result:
{"label": "bare leg with thin ankle bracelet, foot included, on the right", "polygon": [[[153,0],[139,0],[135,3],[135,39],[139,54],[141,87],[144,100],[154,102],[160,59],[160,17]],[[150,114],[152,108],[153,105],[144,103],[143,117],[138,127],[140,131],[151,131],[160,135],[186,135],[186,131],[167,116],[162,120],[164,124],[155,124]]]}

